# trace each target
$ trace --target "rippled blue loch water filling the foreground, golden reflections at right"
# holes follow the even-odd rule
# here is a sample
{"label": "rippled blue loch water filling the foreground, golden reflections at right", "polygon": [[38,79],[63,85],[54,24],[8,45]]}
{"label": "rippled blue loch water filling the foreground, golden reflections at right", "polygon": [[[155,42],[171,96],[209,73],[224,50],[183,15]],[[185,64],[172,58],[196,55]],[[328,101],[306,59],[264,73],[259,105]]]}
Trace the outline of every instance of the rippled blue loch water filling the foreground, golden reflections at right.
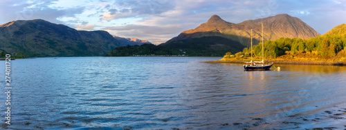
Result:
{"label": "rippled blue loch water filling the foreground, golden reflections at right", "polygon": [[[200,57],[11,61],[11,125],[1,129],[312,129],[346,125],[346,67]],[[5,61],[0,61],[5,117]]]}

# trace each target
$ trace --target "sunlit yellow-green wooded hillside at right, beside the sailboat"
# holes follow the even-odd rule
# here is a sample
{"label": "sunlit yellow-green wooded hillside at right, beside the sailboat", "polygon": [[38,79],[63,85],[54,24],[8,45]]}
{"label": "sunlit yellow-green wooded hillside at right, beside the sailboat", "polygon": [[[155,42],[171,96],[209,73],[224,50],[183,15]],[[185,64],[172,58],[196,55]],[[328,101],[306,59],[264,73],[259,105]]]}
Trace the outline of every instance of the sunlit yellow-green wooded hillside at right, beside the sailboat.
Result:
{"label": "sunlit yellow-green wooded hillside at right, beside the sailboat", "polygon": [[[346,24],[338,25],[329,32],[311,39],[281,38],[264,42],[265,57],[306,58],[307,60],[346,61]],[[238,56],[250,56],[251,51],[244,48]],[[262,56],[262,43],[253,46],[253,56]]]}

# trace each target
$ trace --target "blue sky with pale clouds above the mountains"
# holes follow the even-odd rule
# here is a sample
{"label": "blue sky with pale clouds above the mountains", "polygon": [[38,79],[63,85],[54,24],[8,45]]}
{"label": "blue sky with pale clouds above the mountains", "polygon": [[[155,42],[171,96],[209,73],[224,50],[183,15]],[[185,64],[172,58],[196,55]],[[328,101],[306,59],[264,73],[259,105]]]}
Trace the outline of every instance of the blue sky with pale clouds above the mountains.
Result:
{"label": "blue sky with pale clouds above the mountains", "polygon": [[1,0],[0,7],[0,25],[44,19],[155,44],[197,28],[213,14],[231,23],[289,14],[320,34],[346,23],[346,0]]}

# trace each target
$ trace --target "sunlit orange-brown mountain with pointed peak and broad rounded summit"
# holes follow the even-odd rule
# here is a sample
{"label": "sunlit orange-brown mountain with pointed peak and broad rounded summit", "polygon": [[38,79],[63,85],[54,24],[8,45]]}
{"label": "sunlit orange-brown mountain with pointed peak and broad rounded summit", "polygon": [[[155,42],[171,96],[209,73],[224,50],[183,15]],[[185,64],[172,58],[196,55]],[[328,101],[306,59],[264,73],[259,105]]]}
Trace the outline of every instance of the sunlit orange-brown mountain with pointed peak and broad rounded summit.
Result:
{"label": "sunlit orange-brown mountain with pointed peak and broad rounded summit", "polygon": [[[170,39],[165,44],[182,41],[184,39],[219,36],[238,41],[246,46],[251,38],[251,29],[253,29],[253,38],[256,44],[262,39],[261,23],[264,25],[265,40],[275,40],[281,37],[309,39],[311,37],[320,36],[320,34],[307,25],[307,23],[304,23],[296,17],[291,17],[288,14],[277,14],[273,17],[248,20],[237,24],[229,23],[217,15],[212,15],[206,23],[202,23],[199,27],[192,30],[181,32],[179,36]],[[217,41],[217,39],[215,39],[215,41]]]}

